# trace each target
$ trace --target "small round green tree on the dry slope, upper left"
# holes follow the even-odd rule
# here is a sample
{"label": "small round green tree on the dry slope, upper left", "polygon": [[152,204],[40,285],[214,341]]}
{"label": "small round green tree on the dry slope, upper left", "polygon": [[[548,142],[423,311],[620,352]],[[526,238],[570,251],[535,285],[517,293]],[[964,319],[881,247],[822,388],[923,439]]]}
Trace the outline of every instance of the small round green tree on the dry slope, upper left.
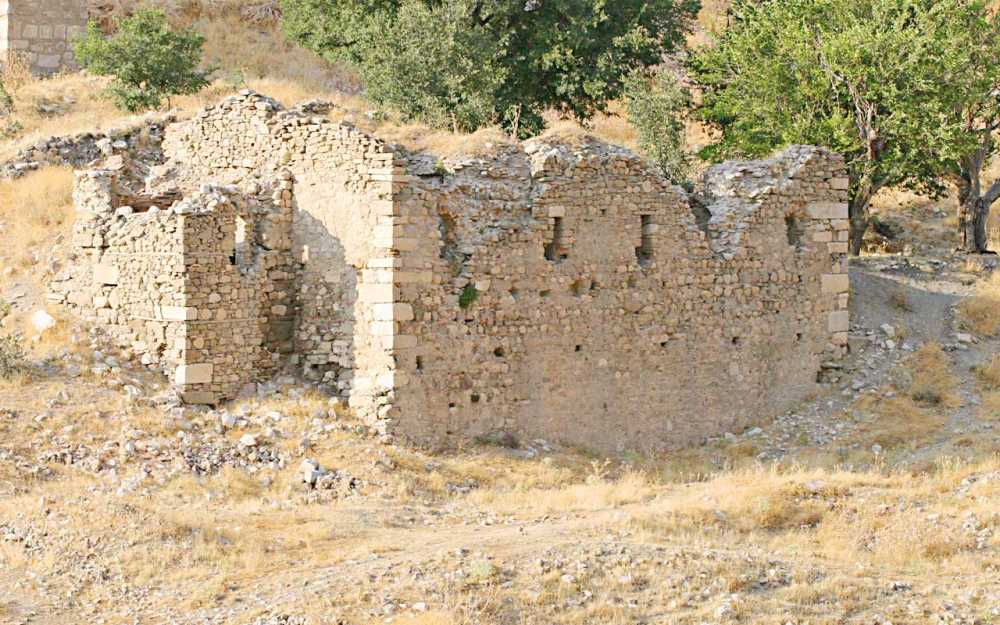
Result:
{"label": "small round green tree on the dry slope, upper left", "polygon": [[211,70],[198,69],[204,42],[194,30],[171,29],[163,11],[142,9],[120,20],[110,37],[91,22],[74,51],[87,70],[114,77],[108,96],[119,108],[135,112],[208,85]]}

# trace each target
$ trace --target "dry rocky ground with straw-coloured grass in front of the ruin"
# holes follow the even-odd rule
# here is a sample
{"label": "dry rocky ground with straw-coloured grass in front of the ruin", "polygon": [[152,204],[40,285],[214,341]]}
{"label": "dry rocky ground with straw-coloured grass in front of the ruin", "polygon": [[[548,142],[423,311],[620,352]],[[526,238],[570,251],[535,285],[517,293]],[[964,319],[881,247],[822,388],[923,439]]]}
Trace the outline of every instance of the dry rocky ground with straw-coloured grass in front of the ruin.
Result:
{"label": "dry rocky ground with straw-coloured grass in front of the ruin", "polygon": [[[1000,622],[1000,429],[973,371],[997,345],[956,310],[978,276],[852,277],[853,355],[814,400],[656,458],[428,455],[291,379],[184,408],[71,331],[0,386],[0,622]],[[886,438],[927,344],[958,399]]]}

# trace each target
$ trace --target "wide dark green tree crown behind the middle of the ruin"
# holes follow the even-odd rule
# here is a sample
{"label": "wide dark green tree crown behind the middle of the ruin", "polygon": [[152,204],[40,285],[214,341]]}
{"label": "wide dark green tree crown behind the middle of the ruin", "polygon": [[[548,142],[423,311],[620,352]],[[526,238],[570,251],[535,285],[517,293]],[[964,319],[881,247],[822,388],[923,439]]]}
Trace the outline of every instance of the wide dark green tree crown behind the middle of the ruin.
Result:
{"label": "wide dark green tree crown behind the middle of the ruin", "polygon": [[698,0],[282,0],[286,34],[408,117],[526,136],[581,120],[683,43]]}

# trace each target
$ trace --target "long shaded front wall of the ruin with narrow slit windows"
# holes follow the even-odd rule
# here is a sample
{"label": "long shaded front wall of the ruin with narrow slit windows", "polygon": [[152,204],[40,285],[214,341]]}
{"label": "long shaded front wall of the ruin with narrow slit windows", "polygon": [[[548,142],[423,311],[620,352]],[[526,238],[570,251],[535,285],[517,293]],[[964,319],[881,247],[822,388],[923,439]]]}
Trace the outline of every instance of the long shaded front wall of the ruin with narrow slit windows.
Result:
{"label": "long shaded front wall of the ruin with narrow slit windows", "polygon": [[525,150],[401,198],[424,243],[399,254],[392,431],[672,447],[800,401],[845,348],[838,157],[710,172],[699,224],[624,151]]}

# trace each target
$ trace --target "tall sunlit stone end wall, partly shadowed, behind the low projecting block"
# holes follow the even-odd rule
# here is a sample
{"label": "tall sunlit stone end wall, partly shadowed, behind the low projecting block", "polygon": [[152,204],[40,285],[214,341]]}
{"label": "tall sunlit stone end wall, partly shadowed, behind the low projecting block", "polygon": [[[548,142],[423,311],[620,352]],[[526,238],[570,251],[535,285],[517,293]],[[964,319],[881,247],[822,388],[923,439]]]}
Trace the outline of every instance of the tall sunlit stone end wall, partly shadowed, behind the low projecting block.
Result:
{"label": "tall sunlit stone end wall, partly shadowed, behind the low projecting block", "polygon": [[188,187],[250,189],[288,172],[292,265],[262,309],[264,323],[290,333],[281,351],[304,377],[377,414],[393,389],[393,327],[381,305],[392,301],[387,224],[402,164],[384,142],[308,105],[286,111],[251,92],[171,126],[164,152]]}

